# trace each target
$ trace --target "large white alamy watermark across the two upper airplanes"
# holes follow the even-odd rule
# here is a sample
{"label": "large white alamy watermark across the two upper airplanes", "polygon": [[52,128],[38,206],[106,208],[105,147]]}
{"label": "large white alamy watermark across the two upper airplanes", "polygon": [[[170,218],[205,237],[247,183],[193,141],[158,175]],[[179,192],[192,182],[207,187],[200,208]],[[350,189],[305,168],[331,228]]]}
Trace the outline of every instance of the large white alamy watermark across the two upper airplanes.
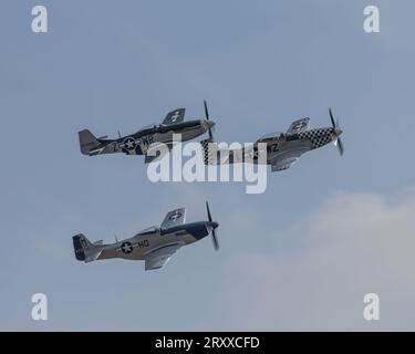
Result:
{"label": "large white alamy watermark across the two upper airplanes", "polygon": [[[159,181],[220,181],[246,183],[247,194],[262,194],[267,189],[267,144],[200,143],[181,144],[181,135],[173,135],[173,147],[154,143],[147,156],[154,158],[147,177]],[[172,156],[172,158],[170,158]]]}

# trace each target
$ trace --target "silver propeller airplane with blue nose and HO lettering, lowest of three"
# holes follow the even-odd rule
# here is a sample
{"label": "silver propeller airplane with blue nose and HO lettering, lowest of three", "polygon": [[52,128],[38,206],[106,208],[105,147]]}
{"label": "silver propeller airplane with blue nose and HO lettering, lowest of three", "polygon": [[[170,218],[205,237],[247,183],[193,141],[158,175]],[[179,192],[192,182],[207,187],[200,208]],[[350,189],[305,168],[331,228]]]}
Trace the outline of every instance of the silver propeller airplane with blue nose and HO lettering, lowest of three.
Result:
{"label": "silver propeller airplane with blue nose and HO lettering, lowest of three", "polygon": [[211,218],[206,201],[208,221],[186,223],[186,208],[169,211],[159,227],[149,227],[132,238],[104,244],[102,240],[91,242],[83,233],[72,237],[75,258],[79,261],[122,258],[144,260],[145,270],[159,269],[183,246],[194,243],[211,235],[215,250],[219,249],[216,229],[219,223]]}

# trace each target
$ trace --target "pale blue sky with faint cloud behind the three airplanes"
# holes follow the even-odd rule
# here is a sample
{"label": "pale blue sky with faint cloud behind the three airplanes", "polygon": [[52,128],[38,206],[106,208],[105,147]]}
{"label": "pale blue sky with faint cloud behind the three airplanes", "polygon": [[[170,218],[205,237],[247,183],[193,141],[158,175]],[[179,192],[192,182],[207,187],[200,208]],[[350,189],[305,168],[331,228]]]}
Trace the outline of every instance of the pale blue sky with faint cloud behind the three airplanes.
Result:
{"label": "pale blue sky with faint cloud behind the three airplanes", "polygon": [[[363,31],[367,3],[381,9],[378,34]],[[49,9],[48,34],[31,32],[34,4]],[[1,12],[0,329],[415,330],[404,311],[415,263],[397,271],[408,246],[388,247],[395,231],[405,233],[402,225],[413,230],[415,211],[401,198],[415,173],[413,1],[7,0]],[[127,134],[181,106],[187,118],[201,117],[205,98],[217,139],[227,142],[253,142],[302,116],[329,125],[332,106],[345,154],[333,146],[310,153],[269,174],[263,195],[246,195],[241,184],[155,185],[142,157],[80,154],[81,128]],[[385,243],[359,223],[367,241],[328,248],[328,261],[310,270],[311,243],[325,249],[354,229],[334,226],[328,240],[309,222],[325,220],[318,216],[328,204],[351,218],[372,198],[392,198],[386,207],[408,208],[407,218],[391,225]],[[154,272],[142,262],[84,264],[73,256],[77,232],[129,237],[179,206],[188,220],[204,219],[205,199],[220,223],[219,252],[205,239]],[[367,218],[372,207],[394,212],[367,205]],[[355,257],[359,249],[388,262]],[[363,294],[376,291],[384,316],[367,324]],[[30,317],[34,292],[49,296],[48,322]]]}

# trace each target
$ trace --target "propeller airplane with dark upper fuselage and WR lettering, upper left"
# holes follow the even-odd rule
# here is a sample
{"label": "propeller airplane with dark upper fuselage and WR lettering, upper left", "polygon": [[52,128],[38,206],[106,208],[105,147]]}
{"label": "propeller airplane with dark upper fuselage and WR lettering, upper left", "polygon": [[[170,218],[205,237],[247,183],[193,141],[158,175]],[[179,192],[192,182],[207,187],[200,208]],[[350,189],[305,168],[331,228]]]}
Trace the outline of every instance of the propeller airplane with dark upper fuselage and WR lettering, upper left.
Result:
{"label": "propeller airplane with dark upper fuselage and WR lettering, upper left", "polygon": [[205,118],[184,122],[186,108],[178,108],[167,114],[162,124],[148,125],[141,131],[118,138],[108,139],[107,136],[95,137],[89,129],[80,131],[79,139],[83,155],[95,156],[103,154],[124,153],[126,155],[145,155],[145,163],[153,162],[158,156],[148,155],[149,149],[156,149],[157,143],[173,147],[173,134],[181,134],[181,142],[190,140],[209,132],[215,122],[210,121],[209,112],[205,104]]}

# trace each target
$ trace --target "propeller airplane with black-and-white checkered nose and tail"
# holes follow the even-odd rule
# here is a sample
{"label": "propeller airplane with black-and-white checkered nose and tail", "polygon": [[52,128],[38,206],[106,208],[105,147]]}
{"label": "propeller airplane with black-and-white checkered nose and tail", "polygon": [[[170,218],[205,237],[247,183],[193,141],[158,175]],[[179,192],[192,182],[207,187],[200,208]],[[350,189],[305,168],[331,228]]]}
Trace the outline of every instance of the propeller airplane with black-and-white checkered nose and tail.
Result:
{"label": "propeller airplane with black-and-white checkered nose and tail", "polygon": [[343,131],[339,122],[334,122],[332,110],[329,108],[331,127],[310,129],[310,118],[301,118],[292,122],[287,133],[271,133],[260,137],[253,145],[240,149],[220,148],[211,137],[201,140],[205,165],[251,163],[258,164],[258,143],[267,144],[267,165],[271,165],[271,171],[280,171],[291,167],[302,154],[333,143],[340,155],[344,147],[340,139]]}

